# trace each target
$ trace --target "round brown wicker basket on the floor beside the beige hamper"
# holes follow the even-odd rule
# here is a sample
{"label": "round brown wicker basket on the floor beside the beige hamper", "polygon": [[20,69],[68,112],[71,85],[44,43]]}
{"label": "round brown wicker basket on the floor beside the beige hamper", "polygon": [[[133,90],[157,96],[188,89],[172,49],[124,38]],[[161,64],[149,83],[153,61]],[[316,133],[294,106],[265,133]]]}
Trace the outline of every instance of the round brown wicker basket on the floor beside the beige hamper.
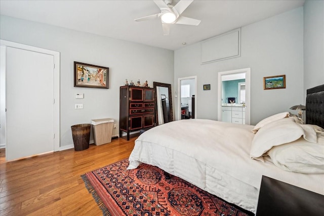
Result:
{"label": "round brown wicker basket on the floor beside the beige hamper", "polygon": [[75,151],[89,148],[91,124],[72,125],[72,137]]}

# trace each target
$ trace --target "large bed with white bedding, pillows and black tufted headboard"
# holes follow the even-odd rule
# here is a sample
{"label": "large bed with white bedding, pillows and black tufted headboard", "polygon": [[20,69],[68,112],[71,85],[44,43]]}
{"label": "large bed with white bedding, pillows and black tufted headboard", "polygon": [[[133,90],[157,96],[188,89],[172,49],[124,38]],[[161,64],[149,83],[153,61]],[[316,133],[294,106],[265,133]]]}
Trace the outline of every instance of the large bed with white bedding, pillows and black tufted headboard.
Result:
{"label": "large bed with white bedding, pillows and black tufted headboard", "polygon": [[306,124],[285,112],[256,126],[201,119],[159,125],[135,141],[128,169],[157,166],[253,213],[262,175],[324,195],[323,104],[321,85],[307,90]]}

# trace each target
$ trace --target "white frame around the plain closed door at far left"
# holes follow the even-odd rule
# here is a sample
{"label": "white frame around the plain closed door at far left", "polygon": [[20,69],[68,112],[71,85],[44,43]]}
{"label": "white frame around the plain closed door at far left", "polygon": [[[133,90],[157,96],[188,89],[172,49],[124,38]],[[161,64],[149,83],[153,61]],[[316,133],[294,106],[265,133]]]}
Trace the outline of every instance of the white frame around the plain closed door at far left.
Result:
{"label": "white frame around the plain closed door at far left", "polygon": [[[60,150],[60,52],[0,39],[0,45],[44,53],[54,57],[54,151]],[[6,48],[7,49],[7,48]],[[6,64],[6,63],[5,63]],[[6,67],[6,66],[5,66]],[[7,74],[7,71],[5,72]],[[7,83],[7,82],[6,82]],[[5,99],[7,101],[7,98]],[[7,103],[7,102],[6,102]],[[6,106],[7,107],[7,106]],[[3,112],[3,111],[1,111]],[[7,122],[7,120],[6,120]],[[7,128],[7,124],[5,125]],[[7,144],[7,141],[6,141]]]}

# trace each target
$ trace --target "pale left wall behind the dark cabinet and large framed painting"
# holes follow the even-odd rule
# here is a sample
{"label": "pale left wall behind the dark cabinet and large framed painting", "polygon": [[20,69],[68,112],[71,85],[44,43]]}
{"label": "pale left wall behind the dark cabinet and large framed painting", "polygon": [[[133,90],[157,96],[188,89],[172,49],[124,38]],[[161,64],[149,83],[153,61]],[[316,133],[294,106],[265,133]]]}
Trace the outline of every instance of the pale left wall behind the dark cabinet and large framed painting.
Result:
{"label": "pale left wall behind the dark cabinet and large framed painting", "polygon": [[[174,79],[172,50],[6,16],[0,18],[0,38],[60,52],[61,149],[73,145],[70,126],[91,119],[114,119],[113,135],[118,134],[119,86],[125,79],[147,80],[150,87],[153,81],[172,83]],[[73,87],[73,61],[108,67],[109,89]],[[84,99],[75,99],[75,93],[84,93]],[[75,103],[83,103],[84,109],[75,110]]]}

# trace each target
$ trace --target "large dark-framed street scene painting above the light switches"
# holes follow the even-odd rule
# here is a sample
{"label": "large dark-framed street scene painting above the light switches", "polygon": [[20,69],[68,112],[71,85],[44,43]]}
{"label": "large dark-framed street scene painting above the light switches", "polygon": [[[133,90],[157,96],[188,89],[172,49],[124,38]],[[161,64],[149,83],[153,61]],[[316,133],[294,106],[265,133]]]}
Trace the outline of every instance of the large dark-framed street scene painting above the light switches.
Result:
{"label": "large dark-framed street scene painting above the light switches", "polygon": [[109,68],[74,62],[74,87],[109,88]]}

